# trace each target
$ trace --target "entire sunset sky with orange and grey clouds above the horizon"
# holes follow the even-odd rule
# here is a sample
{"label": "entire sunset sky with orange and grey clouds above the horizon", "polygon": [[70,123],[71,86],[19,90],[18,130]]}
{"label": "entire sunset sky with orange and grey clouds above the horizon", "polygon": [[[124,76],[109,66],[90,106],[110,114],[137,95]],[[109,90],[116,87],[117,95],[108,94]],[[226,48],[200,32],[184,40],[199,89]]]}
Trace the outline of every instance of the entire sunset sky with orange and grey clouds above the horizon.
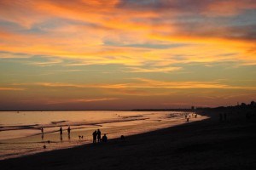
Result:
{"label": "entire sunset sky with orange and grey clouds above the horizon", "polygon": [[0,110],[256,100],[255,0],[0,0]]}

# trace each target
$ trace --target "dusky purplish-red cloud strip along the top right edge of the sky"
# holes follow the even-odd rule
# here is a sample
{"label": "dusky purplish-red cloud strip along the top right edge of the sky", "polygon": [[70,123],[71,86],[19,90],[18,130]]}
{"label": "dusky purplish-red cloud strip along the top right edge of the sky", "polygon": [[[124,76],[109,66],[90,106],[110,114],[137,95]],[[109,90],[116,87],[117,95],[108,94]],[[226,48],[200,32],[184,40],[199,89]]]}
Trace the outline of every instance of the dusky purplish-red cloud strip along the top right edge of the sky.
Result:
{"label": "dusky purplish-red cloud strip along the top right edge of the sky", "polygon": [[241,12],[243,9],[255,8],[256,2],[253,0],[123,0],[119,3],[119,8],[155,10],[161,12],[175,11],[181,14],[207,14],[207,12],[212,13],[214,10],[218,13],[220,8],[226,8],[221,5],[230,5],[228,7],[229,9],[234,8],[236,12]]}

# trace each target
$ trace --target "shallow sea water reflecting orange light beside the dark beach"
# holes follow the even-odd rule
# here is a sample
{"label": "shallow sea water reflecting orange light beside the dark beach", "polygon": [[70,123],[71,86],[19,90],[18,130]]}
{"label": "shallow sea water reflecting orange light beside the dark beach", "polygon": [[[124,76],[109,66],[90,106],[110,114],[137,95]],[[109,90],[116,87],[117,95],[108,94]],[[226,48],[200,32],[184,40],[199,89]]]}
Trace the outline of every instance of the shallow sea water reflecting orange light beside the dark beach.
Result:
{"label": "shallow sea water reflecting orange light beside the dark beach", "polygon": [[[0,111],[0,160],[92,142],[100,129],[108,139],[185,122],[192,112],[171,111]],[[193,116],[192,116],[193,117]],[[197,116],[191,121],[206,117]],[[70,136],[67,127],[71,127]],[[41,127],[44,133],[41,133]],[[60,127],[63,134],[60,134]],[[45,146],[45,147],[44,147]]]}

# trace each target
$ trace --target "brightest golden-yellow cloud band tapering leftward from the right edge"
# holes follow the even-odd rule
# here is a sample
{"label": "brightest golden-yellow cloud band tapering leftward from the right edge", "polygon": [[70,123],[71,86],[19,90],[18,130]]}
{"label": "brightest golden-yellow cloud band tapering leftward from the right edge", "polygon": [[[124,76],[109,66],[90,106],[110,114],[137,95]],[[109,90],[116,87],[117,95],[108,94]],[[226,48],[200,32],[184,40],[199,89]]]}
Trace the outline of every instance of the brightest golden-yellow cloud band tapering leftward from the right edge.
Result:
{"label": "brightest golden-yellow cloud band tapering leftward from the right edge", "polygon": [[[218,37],[177,37],[177,36],[160,36],[150,35],[152,39],[193,43],[190,46],[177,47],[172,50],[163,51],[161,56],[183,55],[179,62],[218,62],[218,61],[237,61],[244,63],[255,63],[256,43],[241,40],[229,40]],[[230,55],[225,55],[230,54]],[[167,57],[166,57],[167,58]],[[242,65],[242,63],[241,63]]]}

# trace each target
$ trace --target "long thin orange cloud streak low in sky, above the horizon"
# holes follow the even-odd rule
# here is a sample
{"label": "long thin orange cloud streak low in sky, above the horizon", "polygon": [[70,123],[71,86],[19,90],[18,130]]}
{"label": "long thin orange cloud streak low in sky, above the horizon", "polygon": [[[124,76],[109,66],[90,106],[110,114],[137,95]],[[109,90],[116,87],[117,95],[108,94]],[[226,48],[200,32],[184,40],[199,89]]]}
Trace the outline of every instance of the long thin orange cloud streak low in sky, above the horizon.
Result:
{"label": "long thin orange cloud streak low in sky, above the horizon", "polygon": [[15,86],[44,86],[49,88],[177,88],[177,89],[189,89],[189,88],[219,88],[219,89],[251,89],[255,90],[256,87],[249,86],[236,86],[221,83],[218,81],[212,82],[166,82],[166,81],[156,81],[152,79],[145,78],[133,78],[129,83],[113,83],[113,84],[96,84],[96,83],[86,83],[86,84],[75,84],[75,83],[62,83],[62,82],[35,82],[35,83],[15,83]]}

